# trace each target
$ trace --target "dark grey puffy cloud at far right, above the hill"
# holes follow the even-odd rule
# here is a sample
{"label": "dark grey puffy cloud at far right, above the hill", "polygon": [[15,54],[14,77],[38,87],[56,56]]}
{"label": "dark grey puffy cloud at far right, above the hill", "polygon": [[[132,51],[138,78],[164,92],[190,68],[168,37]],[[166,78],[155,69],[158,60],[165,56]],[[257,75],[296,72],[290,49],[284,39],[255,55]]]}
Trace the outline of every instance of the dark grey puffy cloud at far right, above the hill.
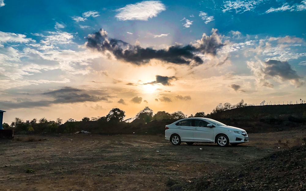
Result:
{"label": "dark grey puffy cloud at far right, above the hill", "polygon": [[269,60],[264,62],[266,67],[263,68],[263,73],[272,77],[280,77],[283,81],[292,80],[296,86],[304,84],[297,72],[291,68],[287,61]]}

